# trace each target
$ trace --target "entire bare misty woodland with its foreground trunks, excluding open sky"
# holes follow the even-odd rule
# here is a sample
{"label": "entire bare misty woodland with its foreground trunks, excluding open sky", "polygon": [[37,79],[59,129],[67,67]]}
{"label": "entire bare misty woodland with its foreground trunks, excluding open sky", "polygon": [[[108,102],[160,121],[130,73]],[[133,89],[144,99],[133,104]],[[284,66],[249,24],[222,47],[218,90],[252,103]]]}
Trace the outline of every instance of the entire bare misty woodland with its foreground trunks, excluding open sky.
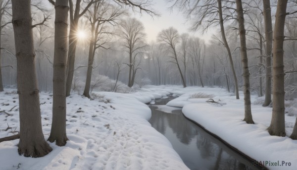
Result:
{"label": "entire bare misty woodland with its foreground trunks, excluding open sky", "polygon": [[[47,140],[65,146],[66,100],[74,94],[94,100],[94,92],[135,93],[147,85],[219,87],[236,99],[243,92],[247,124],[255,123],[256,95],[272,107],[268,133],[286,136],[285,113],[297,115],[285,106],[297,98],[297,1],[165,1],[189,31],[168,26],[148,42],[133,16],[160,17],[154,0],[0,0],[0,92],[17,89],[20,123],[18,134],[1,139],[19,138],[20,155],[43,157],[52,148],[41,92],[52,95]],[[289,137],[297,139],[297,121]]]}

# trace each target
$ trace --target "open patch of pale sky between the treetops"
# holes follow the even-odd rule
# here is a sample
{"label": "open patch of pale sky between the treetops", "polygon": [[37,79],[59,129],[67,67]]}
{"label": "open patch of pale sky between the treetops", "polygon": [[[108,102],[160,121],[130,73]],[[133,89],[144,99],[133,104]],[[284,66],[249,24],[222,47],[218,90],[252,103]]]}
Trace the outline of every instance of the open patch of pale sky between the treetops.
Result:
{"label": "open patch of pale sky between the treetops", "polygon": [[190,22],[185,23],[186,19],[184,18],[182,12],[179,12],[177,9],[170,11],[170,9],[168,9],[170,4],[166,3],[165,0],[153,0],[153,4],[154,6],[152,6],[152,8],[161,14],[160,17],[152,18],[145,12],[143,12],[142,15],[139,13],[132,13],[131,15],[143,22],[148,35],[148,42],[156,41],[158,33],[162,29],[167,29],[171,26],[176,28],[179,31],[179,34],[188,32],[190,35],[197,36],[205,39],[206,41],[209,40],[209,37],[211,36],[210,33],[204,33],[202,36],[201,31],[189,32],[188,29],[190,27]]}

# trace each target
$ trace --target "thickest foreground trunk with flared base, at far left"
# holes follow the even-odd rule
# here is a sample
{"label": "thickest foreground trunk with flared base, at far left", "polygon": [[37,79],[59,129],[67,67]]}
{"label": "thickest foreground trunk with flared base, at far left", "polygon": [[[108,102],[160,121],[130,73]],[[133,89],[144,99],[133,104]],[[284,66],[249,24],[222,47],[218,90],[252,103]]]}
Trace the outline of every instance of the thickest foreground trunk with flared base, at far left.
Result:
{"label": "thickest foreground trunk with flared base, at far left", "polygon": [[25,157],[43,157],[52,149],[42,132],[34,61],[31,0],[12,0],[12,14],[20,113],[18,153]]}

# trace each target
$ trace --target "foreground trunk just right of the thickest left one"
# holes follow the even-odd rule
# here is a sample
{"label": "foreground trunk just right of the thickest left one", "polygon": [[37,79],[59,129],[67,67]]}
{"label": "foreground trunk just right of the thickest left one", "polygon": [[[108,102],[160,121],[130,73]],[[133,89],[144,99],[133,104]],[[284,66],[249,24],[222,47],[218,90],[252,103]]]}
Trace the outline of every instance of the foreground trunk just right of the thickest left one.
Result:
{"label": "foreground trunk just right of the thickest left one", "polygon": [[49,142],[56,141],[57,146],[65,146],[66,136],[66,63],[67,63],[67,27],[68,0],[55,2],[54,58],[53,58],[53,102],[52,124]]}

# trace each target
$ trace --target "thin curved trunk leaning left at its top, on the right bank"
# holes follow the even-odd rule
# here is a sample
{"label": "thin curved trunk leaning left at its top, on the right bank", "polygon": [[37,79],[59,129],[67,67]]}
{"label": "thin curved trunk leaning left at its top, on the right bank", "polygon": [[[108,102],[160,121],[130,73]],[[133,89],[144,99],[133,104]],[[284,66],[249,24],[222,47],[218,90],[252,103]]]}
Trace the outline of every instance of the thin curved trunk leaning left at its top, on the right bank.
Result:
{"label": "thin curved trunk leaning left at its top, on the right bank", "polygon": [[218,0],[218,7],[219,7],[221,35],[222,35],[222,39],[223,39],[223,42],[224,42],[224,46],[226,47],[226,50],[228,52],[229,60],[230,60],[230,65],[231,65],[233,79],[234,79],[234,85],[235,85],[236,99],[239,99],[237,77],[236,77],[236,73],[235,73],[235,69],[234,69],[234,64],[233,64],[231,51],[230,51],[230,48],[229,48],[229,45],[228,45],[228,42],[227,42],[227,39],[226,39],[226,36],[225,36],[225,28],[224,28],[224,23],[223,23],[223,12],[222,12],[222,2],[221,2],[221,0]]}

